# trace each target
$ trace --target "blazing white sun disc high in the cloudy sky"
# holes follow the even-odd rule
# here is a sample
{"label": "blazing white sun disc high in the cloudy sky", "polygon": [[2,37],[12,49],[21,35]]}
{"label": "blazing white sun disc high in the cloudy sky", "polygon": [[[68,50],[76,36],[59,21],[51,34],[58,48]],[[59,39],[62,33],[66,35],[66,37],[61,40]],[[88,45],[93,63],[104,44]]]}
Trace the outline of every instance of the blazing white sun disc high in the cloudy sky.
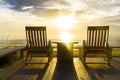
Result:
{"label": "blazing white sun disc high in the cloudy sky", "polygon": [[75,18],[71,15],[68,16],[62,15],[55,19],[55,23],[61,29],[69,29],[74,26],[75,22],[76,22]]}

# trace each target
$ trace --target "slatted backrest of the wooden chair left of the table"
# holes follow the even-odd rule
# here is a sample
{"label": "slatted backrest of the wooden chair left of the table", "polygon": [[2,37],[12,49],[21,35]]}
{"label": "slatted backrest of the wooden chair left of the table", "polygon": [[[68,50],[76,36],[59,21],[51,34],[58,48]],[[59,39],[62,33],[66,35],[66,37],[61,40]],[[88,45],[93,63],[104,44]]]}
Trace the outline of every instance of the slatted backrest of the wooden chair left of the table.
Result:
{"label": "slatted backrest of the wooden chair left of the table", "polygon": [[45,48],[47,46],[47,31],[45,26],[26,26],[28,48]]}

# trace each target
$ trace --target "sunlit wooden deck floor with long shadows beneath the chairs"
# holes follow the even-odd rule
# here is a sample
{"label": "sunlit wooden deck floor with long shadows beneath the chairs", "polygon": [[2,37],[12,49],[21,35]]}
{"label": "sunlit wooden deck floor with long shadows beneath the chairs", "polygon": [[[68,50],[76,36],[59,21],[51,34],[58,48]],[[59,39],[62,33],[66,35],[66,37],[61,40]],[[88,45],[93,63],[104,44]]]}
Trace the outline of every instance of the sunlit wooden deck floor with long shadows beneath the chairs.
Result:
{"label": "sunlit wooden deck floor with long shadows beneath the chairs", "polygon": [[[0,70],[0,80],[119,80],[120,58],[110,60],[111,66],[90,64],[84,67],[79,58],[73,63],[58,64],[53,58],[49,64],[28,64],[20,60]],[[43,59],[46,61],[46,58]]]}

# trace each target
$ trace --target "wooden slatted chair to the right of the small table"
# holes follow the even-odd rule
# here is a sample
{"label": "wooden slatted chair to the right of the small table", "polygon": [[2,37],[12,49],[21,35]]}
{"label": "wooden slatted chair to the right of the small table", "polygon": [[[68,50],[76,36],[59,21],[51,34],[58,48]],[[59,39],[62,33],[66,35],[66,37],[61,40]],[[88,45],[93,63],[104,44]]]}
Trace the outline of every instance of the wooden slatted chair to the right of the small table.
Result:
{"label": "wooden slatted chair to the right of the small table", "polygon": [[[87,28],[87,41],[83,40],[83,62],[84,64],[99,64],[99,62],[88,62],[87,57],[103,57],[101,64],[109,62],[109,26],[88,26]],[[97,61],[97,59],[93,60]]]}

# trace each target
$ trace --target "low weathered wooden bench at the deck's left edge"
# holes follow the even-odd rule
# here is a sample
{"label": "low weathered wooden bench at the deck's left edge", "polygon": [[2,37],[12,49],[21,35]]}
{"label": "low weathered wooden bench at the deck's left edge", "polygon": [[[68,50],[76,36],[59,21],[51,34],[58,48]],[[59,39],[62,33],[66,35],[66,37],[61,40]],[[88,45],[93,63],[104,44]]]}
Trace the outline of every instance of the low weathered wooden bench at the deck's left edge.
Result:
{"label": "low weathered wooden bench at the deck's left edge", "polygon": [[18,51],[19,57],[23,58],[23,51],[25,50],[25,46],[14,46],[8,49],[2,49],[0,50],[0,67],[2,67],[5,61],[5,64],[12,64],[14,61],[14,56],[17,54]]}

